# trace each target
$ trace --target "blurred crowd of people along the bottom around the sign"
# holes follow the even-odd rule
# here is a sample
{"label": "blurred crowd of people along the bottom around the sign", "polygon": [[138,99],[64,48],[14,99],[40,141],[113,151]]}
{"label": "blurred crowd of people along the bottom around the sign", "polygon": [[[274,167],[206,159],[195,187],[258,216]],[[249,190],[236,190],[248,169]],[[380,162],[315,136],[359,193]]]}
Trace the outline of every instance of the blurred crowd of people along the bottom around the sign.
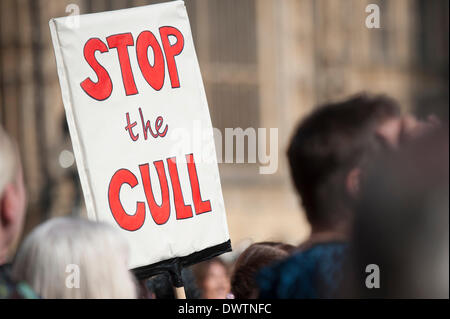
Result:
{"label": "blurred crowd of people along the bottom around the sign", "polygon": [[[387,96],[314,108],[286,154],[310,237],[185,268],[187,298],[448,298],[448,145],[448,119],[404,114]],[[168,274],[133,276],[109,225],[52,218],[12,252],[25,207],[19,154],[0,128],[0,298],[175,297]]]}

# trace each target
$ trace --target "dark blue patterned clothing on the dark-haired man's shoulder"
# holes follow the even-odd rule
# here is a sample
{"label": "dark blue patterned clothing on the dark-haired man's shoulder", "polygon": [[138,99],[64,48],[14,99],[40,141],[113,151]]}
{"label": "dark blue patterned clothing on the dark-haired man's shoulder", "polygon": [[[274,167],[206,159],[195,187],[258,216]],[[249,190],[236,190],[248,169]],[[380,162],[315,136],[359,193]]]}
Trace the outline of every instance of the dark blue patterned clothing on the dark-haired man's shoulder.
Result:
{"label": "dark blue patterned clothing on the dark-haired man's shoulder", "polygon": [[338,293],[347,244],[328,242],[294,253],[257,276],[260,298],[333,298]]}

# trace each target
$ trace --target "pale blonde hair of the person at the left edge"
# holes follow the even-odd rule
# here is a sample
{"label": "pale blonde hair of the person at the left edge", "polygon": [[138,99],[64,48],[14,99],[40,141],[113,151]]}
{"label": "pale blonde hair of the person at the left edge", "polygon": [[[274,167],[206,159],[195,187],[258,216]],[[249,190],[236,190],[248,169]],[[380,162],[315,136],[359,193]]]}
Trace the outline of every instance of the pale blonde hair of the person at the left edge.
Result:
{"label": "pale blonde hair of the person at the left edge", "polygon": [[0,125],[0,198],[17,172],[17,150]]}

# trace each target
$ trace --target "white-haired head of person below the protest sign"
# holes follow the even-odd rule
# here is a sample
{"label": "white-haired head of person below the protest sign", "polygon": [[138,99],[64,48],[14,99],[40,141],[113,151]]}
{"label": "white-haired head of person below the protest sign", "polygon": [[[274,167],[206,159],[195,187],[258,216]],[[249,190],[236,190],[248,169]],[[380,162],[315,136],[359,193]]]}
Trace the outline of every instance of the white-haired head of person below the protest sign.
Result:
{"label": "white-haired head of person below the protest sign", "polygon": [[136,298],[125,238],[104,223],[58,217],[24,240],[12,276],[42,298]]}

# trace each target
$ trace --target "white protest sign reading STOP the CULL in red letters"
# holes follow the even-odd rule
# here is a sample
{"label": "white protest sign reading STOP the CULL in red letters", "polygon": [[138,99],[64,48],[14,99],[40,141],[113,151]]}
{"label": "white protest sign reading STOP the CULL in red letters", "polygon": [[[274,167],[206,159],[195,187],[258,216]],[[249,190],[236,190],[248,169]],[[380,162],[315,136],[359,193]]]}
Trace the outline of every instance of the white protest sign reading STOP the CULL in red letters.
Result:
{"label": "white protest sign reading STOP the CULL in red letters", "polygon": [[[184,3],[72,20],[52,19],[50,29],[89,218],[125,234],[130,268],[229,249]],[[200,136],[201,147],[181,143],[196,125],[208,133]],[[212,156],[206,160],[205,153]]]}

